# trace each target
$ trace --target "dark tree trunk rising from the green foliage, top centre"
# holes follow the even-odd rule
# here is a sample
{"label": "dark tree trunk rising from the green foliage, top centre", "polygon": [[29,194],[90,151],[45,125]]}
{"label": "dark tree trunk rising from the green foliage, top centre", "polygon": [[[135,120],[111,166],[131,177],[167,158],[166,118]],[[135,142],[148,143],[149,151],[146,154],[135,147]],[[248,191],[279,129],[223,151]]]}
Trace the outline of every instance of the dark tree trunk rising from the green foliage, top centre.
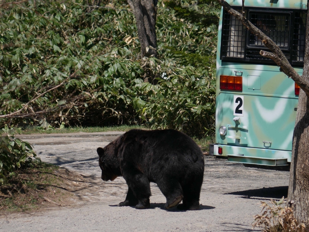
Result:
{"label": "dark tree trunk rising from the green foliage, top centre", "polygon": [[138,39],[141,43],[141,58],[157,56],[157,19],[158,0],[127,0],[136,18]]}

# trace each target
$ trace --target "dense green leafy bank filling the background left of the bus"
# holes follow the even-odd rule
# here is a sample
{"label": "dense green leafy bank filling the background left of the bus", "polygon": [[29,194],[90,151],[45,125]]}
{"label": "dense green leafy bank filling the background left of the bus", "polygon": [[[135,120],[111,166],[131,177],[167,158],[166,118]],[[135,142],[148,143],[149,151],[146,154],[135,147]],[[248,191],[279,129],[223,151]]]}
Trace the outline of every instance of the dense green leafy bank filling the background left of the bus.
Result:
{"label": "dense green leafy bank filling the background left of the bus", "polygon": [[[158,58],[141,59],[127,3],[88,2],[29,0],[0,9],[0,115],[21,110],[2,124],[45,129],[149,124],[197,136],[209,133],[216,26],[177,18],[159,1]],[[143,83],[148,71],[158,85]],[[175,99],[179,103],[172,106]],[[170,107],[152,115],[163,104]]]}

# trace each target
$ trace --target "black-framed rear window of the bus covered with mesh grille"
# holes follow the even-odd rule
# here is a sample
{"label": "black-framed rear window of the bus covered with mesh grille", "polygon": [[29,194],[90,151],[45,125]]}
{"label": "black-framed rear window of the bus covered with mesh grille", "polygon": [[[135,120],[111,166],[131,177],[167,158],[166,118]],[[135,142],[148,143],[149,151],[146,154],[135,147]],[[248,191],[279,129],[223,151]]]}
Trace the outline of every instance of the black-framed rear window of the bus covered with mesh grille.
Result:
{"label": "black-framed rear window of the bus covered with mesh grille", "polygon": [[[241,9],[235,10],[240,12]],[[281,48],[292,65],[303,66],[305,11],[246,9],[245,15]],[[275,64],[271,59],[260,55],[261,49],[267,50],[263,42],[248,32],[238,19],[224,11],[221,40],[222,61]]]}

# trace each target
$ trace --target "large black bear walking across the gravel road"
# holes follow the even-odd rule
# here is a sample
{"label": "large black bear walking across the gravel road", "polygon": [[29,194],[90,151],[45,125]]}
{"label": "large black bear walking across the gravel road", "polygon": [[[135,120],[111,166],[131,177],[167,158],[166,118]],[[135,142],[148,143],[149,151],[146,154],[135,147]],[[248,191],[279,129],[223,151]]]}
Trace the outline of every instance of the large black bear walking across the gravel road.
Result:
{"label": "large black bear walking across the gravel road", "polygon": [[133,129],[106,147],[97,149],[101,178],[123,176],[129,186],[118,206],[150,207],[149,182],[157,183],[166,197],[165,208],[199,209],[204,156],[197,144],[176,130]]}

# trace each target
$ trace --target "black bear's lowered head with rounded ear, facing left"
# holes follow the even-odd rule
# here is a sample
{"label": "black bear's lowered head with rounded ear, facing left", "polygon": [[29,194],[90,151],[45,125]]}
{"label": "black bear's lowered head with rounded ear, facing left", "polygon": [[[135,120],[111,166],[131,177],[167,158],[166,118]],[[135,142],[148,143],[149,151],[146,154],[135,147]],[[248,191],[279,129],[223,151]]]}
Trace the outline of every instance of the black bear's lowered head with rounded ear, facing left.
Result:
{"label": "black bear's lowered head with rounded ear, facing left", "polygon": [[113,167],[110,165],[110,160],[107,154],[105,154],[105,150],[102,147],[98,147],[97,153],[99,155],[99,166],[102,170],[101,178],[104,181],[114,180],[117,178],[117,175],[114,174]]}

